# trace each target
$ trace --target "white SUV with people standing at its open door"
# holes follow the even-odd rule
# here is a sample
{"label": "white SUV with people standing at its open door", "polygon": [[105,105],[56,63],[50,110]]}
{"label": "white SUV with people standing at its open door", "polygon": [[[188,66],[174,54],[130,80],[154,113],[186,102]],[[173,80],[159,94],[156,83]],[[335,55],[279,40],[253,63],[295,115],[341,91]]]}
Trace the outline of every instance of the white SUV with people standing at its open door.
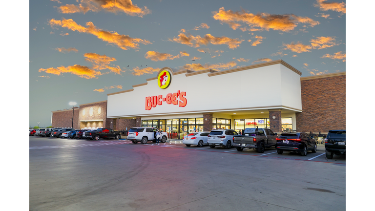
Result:
{"label": "white SUV with people standing at its open door", "polygon": [[[132,127],[127,133],[127,140],[137,144],[147,144],[148,141],[156,142],[156,132],[159,131],[155,127]],[[167,141],[167,133],[160,133],[160,141],[162,143]]]}

